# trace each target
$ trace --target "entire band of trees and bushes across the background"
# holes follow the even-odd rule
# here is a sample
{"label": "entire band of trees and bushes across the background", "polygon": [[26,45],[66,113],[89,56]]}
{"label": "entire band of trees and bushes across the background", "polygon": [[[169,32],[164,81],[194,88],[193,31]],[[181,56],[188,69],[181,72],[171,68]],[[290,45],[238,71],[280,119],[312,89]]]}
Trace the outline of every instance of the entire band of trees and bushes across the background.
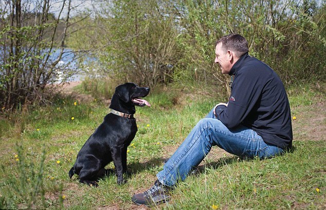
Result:
{"label": "entire band of trees and bushes across the background", "polygon": [[[20,10],[20,4],[31,3],[0,5],[0,45],[8,49],[0,62],[0,103],[6,110],[46,103],[52,96],[48,88],[55,87],[48,84],[58,81],[60,71],[63,80],[75,72],[57,65],[63,51],[49,62],[58,44],[80,50],[80,56],[88,53],[92,59],[82,59],[84,66],[119,83],[205,83],[228,94],[229,77],[213,63],[214,43],[240,33],[249,54],[271,66],[285,85],[325,81],[324,1],[95,1],[96,11],[84,9],[73,18],[48,13],[51,4],[35,6],[44,13]],[[95,96],[111,89],[84,88]]]}

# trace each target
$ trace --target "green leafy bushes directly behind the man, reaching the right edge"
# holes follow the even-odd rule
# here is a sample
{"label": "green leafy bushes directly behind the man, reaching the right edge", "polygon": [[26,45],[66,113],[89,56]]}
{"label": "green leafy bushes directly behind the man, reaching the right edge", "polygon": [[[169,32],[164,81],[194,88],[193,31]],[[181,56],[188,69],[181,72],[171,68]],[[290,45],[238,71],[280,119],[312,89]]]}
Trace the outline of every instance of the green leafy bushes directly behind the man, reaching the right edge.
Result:
{"label": "green leafy bushes directly behind the man, reaching the right edge", "polygon": [[[315,1],[181,1],[187,51],[178,81],[195,78],[227,89],[228,78],[213,66],[214,43],[240,33],[249,54],[267,63],[285,84],[325,80],[325,5]],[[187,70],[185,70],[187,69]],[[185,71],[190,77],[185,77]],[[211,77],[214,76],[214,78]]]}

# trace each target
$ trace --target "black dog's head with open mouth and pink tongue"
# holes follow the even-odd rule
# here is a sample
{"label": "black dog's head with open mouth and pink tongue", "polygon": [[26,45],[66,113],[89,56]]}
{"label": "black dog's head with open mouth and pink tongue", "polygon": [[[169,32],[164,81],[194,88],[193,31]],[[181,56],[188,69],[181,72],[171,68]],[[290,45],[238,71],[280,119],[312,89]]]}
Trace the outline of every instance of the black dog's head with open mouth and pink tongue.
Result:
{"label": "black dog's head with open mouth and pink tongue", "polygon": [[151,106],[148,101],[140,99],[146,97],[150,92],[148,87],[139,87],[134,83],[124,83],[116,87],[115,95],[124,103],[131,103],[136,106]]}

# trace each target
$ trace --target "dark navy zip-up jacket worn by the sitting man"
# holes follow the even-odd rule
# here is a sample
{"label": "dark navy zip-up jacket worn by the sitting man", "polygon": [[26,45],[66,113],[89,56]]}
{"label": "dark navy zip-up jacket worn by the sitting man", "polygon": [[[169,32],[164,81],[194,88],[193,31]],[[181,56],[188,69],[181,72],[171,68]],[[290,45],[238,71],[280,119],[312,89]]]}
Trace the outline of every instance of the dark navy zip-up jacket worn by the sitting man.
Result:
{"label": "dark navy zip-up jacket worn by the sitting man", "polygon": [[243,55],[230,70],[233,75],[228,106],[215,108],[229,129],[242,124],[264,142],[283,149],[292,146],[291,111],[282,81],[265,63]]}

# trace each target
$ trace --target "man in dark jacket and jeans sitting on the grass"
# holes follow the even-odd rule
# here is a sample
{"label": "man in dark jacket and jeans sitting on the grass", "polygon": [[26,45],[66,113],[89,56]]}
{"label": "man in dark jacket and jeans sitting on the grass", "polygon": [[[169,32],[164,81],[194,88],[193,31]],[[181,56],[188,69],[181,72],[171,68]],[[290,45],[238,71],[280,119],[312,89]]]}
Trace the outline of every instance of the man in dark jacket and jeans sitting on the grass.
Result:
{"label": "man in dark jacket and jeans sitting on the grass", "polygon": [[197,123],[156,175],[154,185],[133,196],[134,203],[167,201],[171,187],[185,180],[212,146],[260,159],[282,155],[292,147],[291,112],[278,75],[248,55],[248,43],[239,34],[223,36],[215,46],[215,63],[222,73],[231,75],[229,101],[216,105]]}

